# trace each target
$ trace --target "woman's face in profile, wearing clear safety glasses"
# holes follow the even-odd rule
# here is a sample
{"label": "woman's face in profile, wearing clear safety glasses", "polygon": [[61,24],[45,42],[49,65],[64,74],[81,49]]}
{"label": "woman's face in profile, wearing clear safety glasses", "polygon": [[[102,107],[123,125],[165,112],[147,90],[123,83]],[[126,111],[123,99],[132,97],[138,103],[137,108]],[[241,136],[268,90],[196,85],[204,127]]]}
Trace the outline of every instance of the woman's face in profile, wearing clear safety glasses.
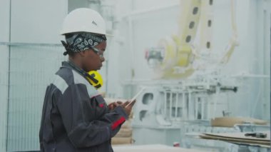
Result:
{"label": "woman's face in profile, wearing clear safety glasses", "polygon": [[88,49],[86,51],[83,51],[83,58],[82,58],[82,69],[84,71],[93,71],[93,70],[99,70],[103,66],[103,61],[105,61],[103,53],[106,51],[106,41],[101,42],[101,44],[98,44],[97,46],[94,46],[96,51],[93,51],[93,49]]}

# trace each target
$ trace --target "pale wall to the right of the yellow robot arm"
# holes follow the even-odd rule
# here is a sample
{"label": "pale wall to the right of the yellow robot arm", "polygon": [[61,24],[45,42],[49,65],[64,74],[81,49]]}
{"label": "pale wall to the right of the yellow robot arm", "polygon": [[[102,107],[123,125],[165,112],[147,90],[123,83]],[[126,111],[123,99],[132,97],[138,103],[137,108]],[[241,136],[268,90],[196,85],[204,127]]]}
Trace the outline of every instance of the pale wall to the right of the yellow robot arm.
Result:
{"label": "pale wall to the right of the yellow robot arm", "polygon": [[231,96],[231,112],[270,120],[270,1],[236,3],[239,46],[225,66],[225,74],[237,76],[241,86]]}

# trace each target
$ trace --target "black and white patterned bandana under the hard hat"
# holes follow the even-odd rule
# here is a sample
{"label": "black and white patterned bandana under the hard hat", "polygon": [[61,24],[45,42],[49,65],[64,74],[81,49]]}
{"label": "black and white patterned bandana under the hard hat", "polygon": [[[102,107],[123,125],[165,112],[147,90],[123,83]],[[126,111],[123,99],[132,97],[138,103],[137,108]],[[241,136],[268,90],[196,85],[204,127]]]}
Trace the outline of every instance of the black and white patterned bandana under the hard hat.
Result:
{"label": "black and white patterned bandana under the hard hat", "polygon": [[103,41],[106,41],[106,36],[101,34],[91,34],[91,33],[67,34],[66,42],[61,41],[62,45],[66,49],[63,55],[66,56],[68,52],[81,52],[87,49],[91,49],[91,46],[96,46]]}

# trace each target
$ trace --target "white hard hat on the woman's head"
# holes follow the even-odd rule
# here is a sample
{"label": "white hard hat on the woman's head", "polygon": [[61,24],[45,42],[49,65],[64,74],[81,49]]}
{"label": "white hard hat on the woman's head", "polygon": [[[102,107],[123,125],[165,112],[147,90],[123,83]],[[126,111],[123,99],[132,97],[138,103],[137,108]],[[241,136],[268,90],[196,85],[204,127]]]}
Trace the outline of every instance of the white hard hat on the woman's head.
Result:
{"label": "white hard hat on the woman's head", "polygon": [[93,9],[75,9],[64,19],[60,34],[64,35],[82,31],[106,34],[106,22],[103,20],[103,17]]}

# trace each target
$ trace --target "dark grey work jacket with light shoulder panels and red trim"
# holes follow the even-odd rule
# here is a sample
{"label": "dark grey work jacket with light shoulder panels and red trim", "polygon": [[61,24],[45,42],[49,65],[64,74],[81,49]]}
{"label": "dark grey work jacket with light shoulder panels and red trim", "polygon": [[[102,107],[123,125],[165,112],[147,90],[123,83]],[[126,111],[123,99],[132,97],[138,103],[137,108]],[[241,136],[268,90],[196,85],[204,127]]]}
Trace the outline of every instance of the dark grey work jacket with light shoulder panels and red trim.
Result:
{"label": "dark grey work jacket with light shoulder panels and red trim", "polygon": [[96,88],[68,62],[46,88],[39,131],[41,151],[111,152],[111,138],[128,116],[108,111]]}

